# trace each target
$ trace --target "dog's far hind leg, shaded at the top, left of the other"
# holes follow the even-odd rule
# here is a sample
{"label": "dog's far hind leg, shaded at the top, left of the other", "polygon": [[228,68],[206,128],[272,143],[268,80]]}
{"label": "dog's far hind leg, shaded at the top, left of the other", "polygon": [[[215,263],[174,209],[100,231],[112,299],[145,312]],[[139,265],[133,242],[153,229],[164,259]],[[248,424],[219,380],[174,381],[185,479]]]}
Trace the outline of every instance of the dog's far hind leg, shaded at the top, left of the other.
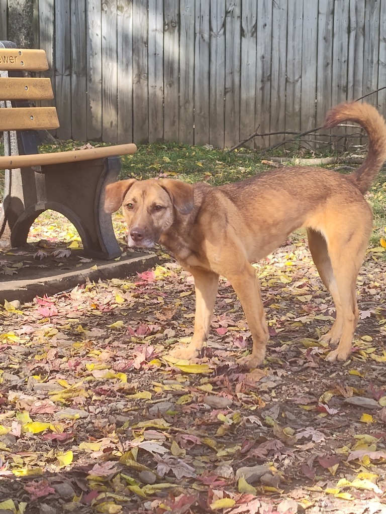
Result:
{"label": "dog's far hind leg, shaded at the top, left of the other", "polygon": [[323,234],[315,230],[307,229],[307,235],[308,247],[312,255],[312,260],[318,269],[323,284],[329,290],[336,308],[336,320],[331,329],[324,334],[320,340],[336,345],[339,343],[342,336],[343,313],[337,282],[334,277],[334,271],[332,270],[331,261],[328,255],[327,242]]}

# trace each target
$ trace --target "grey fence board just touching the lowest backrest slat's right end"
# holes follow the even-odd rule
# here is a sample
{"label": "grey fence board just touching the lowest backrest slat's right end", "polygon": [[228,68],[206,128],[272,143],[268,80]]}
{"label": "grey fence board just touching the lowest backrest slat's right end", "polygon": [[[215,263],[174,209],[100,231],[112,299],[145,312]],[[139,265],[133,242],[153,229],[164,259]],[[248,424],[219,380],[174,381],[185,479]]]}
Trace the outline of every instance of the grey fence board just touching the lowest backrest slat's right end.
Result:
{"label": "grey fence board just touching the lowest backrest slat's right end", "polygon": [[[56,135],[60,139],[70,139],[72,136],[72,63],[69,34],[71,34],[70,2],[62,0],[55,3],[55,84],[52,84],[53,88],[55,86],[56,110],[60,123]],[[41,44],[40,48],[42,48]],[[84,139],[84,134],[81,135],[81,139]]]}

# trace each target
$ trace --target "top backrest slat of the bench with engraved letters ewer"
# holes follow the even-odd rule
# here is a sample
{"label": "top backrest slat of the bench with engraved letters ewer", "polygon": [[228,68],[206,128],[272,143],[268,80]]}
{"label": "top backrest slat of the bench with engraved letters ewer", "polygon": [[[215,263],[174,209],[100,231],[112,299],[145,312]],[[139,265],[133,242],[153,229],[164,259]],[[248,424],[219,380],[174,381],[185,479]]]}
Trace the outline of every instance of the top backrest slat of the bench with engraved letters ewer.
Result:
{"label": "top backrest slat of the bench with engraved letters ewer", "polygon": [[0,69],[45,71],[48,69],[46,52],[22,48],[0,48]]}

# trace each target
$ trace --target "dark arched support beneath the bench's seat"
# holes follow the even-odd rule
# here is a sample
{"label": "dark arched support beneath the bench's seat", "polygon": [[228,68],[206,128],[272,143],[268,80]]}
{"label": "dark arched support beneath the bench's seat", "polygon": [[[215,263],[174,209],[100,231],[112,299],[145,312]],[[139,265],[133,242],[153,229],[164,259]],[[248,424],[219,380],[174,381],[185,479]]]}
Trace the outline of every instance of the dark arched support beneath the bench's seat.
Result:
{"label": "dark arched support beneath the bench's seat", "polygon": [[121,254],[111,215],[104,212],[104,188],[118,178],[119,157],[13,170],[6,216],[12,246],[27,241],[34,220],[47,209],[60,212],[79,232],[84,255],[115,259]]}

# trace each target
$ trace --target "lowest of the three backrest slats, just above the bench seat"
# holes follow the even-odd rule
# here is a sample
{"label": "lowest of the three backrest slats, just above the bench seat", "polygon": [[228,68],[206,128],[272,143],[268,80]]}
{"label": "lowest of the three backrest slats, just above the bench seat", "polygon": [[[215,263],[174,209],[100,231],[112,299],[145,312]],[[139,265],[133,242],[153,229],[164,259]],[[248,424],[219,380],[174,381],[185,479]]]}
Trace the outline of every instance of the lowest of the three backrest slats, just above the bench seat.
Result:
{"label": "lowest of the three backrest slats, just above the bench seat", "polygon": [[58,128],[55,107],[13,107],[0,109],[0,131],[52,130]]}

